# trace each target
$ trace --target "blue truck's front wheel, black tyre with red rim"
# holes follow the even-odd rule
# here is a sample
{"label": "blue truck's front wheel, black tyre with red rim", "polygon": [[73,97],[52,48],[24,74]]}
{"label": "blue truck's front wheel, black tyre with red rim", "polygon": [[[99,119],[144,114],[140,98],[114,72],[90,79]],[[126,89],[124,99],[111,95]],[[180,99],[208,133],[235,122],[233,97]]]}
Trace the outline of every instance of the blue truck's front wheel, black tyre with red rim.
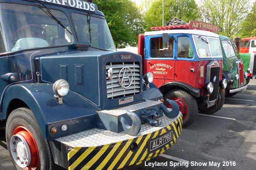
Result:
{"label": "blue truck's front wheel, black tyre with red rim", "polygon": [[[24,144],[26,143],[24,140],[27,144]],[[30,109],[19,108],[11,112],[6,124],[6,141],[10,156],[16,169],[56,169],[48,142],[42,137],[39,126]],[[20,144],[20,142],[23,142],[23,144]],[[15,150],[15,146],[17,150]],[[28,163],[29,154],[25,154],[25,156],[20,154],[20,148],[23,150],[25,149],[24,151],[29,151],[28,153],[31,155],[30,163]],[[30,150],[26,150],[28,148]],[[20,155],[23,157],[20,158]],[[27,167],[20,167],[20,164],[24,166],[26,163]]]}

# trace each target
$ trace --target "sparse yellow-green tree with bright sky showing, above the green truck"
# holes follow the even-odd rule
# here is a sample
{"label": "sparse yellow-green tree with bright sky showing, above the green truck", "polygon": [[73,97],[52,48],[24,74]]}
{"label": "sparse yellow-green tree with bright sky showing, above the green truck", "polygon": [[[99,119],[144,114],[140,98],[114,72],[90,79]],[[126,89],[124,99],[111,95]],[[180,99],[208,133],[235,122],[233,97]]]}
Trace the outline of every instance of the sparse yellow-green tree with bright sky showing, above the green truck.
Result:
{"label": "sparse yellow-green tree with bright sky showing, above the green truck", "polygon": [[200,11],[203,19],[220,28],[220,34],[237,34],[241,21],[249,9],[248,0],[202,0]]}

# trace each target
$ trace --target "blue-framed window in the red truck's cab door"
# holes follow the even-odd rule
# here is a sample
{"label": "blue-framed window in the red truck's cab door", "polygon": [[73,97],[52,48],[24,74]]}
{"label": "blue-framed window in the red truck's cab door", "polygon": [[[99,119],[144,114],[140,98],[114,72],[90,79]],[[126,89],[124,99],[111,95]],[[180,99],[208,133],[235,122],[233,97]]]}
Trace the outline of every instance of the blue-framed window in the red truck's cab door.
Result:
{"label": "blue-framed window in the red truck's cab door", "polygon": [[194,58],[193,47],[188,37],[178,37],[178,58]]}

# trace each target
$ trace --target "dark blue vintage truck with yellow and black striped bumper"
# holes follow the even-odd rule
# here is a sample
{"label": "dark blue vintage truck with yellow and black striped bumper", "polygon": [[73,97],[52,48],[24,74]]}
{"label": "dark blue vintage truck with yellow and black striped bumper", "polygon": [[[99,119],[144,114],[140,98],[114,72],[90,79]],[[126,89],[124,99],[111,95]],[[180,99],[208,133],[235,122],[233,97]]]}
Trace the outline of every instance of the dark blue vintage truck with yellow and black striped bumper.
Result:
{"label": "dark blue vintage truck with yellow and black striped bumper", "polygon": [[121,169],[168,150],[178,105],[116,52],[97,5],[0,1],[0,124],[17,169]]}

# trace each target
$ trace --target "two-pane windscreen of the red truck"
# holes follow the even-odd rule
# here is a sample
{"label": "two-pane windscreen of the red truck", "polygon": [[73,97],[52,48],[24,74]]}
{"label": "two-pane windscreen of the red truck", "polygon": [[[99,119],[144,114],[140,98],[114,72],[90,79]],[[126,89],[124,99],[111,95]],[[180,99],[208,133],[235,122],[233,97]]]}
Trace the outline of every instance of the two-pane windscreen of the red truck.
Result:
{"label": "two-pane windscreen of the red truck", "polygon": [[194,35],[193,40],[199,58],[222,57],[219,38]]}

